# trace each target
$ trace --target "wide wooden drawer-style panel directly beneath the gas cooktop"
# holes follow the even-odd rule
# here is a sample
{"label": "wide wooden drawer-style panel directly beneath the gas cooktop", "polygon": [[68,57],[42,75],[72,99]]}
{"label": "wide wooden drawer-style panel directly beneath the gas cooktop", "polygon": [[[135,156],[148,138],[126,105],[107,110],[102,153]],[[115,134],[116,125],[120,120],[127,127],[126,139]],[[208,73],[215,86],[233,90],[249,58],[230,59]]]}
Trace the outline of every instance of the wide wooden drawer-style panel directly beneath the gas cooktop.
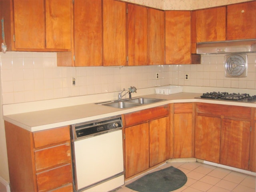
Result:
{"label": "wide wooden drawer-style panel directly beneath the gas cooktop", "polygon": [[221,104],[196,103],[196,113],[224,116],[225,118],[250,119],[251,108]]}

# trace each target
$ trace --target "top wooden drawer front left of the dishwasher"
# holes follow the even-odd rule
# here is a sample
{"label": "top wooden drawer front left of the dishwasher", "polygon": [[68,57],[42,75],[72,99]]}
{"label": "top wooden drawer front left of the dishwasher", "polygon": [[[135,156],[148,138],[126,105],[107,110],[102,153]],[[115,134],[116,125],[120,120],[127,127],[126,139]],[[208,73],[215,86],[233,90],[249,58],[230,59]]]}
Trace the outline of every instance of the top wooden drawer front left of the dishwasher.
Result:
{"label": "top wooden drawer front left of the dishwasher", "polygon": [[34,147],[42,147],[70,140],[70,127],[59,127],[33,132]]}

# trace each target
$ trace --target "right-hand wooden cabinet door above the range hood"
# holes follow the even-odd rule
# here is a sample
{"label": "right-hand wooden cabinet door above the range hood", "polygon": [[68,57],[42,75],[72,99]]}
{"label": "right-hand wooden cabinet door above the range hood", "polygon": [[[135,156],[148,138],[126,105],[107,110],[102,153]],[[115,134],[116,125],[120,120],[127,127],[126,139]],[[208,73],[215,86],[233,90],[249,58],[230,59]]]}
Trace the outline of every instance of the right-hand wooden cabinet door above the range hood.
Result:
{"label": "right-hand wooden cabinet door above the range hood", "polygon": [[227,6],[227,40],[256,38],[256,1]]}

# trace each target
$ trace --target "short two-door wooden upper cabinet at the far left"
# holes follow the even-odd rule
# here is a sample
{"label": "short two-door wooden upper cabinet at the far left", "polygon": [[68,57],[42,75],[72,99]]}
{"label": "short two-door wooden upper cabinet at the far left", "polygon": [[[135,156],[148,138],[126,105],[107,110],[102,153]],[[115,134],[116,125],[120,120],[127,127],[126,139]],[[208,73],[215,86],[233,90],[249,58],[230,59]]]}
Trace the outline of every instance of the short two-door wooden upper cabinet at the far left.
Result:
{"label": "short two-door wooden upper cabinet at the far left", "polygon": [[72,1],[13,0],[14,50],[70,50]]}

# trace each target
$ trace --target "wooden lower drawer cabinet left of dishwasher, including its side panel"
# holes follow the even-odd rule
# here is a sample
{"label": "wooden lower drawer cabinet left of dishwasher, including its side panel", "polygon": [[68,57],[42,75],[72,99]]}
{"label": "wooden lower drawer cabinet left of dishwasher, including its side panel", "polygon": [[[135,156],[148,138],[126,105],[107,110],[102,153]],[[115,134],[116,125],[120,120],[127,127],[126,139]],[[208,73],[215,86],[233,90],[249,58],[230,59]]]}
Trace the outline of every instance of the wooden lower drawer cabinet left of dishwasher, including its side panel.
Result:
{"label": "wooden lower drawer cabinet left of dishwasher, including its side panel", "polygon": [[5,121],[11,191],[72,192],[69,126],[29,132]]}

